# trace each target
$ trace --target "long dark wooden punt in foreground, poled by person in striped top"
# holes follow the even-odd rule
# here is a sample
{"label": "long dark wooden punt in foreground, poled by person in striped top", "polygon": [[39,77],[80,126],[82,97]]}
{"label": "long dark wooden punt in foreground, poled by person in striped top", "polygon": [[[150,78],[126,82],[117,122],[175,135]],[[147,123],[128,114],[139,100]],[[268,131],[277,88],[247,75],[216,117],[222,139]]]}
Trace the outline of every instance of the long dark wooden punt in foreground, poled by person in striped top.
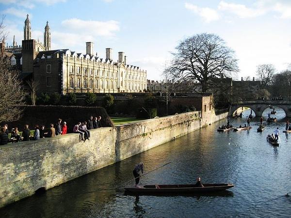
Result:
{"label": "long dark wooden punt in foreground, poled by person in striped top", "polygon": [[194,184],[187,185],[144,185],[140,187],[124,187],[127,193],[134,194],[185,194],[185,193],[207,193],[214,191],[224,191],[234,187],[231,183],[223,184],[203,184],[204,187],[195,187]]}

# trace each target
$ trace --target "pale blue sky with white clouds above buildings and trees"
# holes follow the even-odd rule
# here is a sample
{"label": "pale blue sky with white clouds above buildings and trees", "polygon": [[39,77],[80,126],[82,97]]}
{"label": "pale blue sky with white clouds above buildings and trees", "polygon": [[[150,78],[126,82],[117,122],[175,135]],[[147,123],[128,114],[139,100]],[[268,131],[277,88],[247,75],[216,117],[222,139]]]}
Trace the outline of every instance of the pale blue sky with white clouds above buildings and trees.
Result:
{"label": "pale blue sky with white clouds above buildings and trees", "polygon": [[256,77],[259,64],[274,64],[277,72],[291,63],[291,0],[0,0],[6,43],[23,40],[29,14],[32,39],[43,42],[46,22],[51,49],[85,53],[86,42],[113,60],[124,51],[127,63],[147,71],[147,79],[162,80],[179,42],[207,32],[219,35],[236,52],[236,78]]}

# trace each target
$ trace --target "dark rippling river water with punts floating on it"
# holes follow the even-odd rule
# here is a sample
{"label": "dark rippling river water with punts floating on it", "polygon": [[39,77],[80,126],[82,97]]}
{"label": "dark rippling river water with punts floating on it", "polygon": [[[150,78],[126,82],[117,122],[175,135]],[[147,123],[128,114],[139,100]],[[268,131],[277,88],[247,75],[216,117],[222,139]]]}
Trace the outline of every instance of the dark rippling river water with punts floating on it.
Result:
{"label": "dark rippling river water with punts floating on it", "polygon": [[[271,110],[271,109],[270,109]],[[215,123],[167,142],[112,166],[89,173],[43,194],[34,195],[0,209],[0,217],[291,217],[291,133],[285,129],[285,113],[276,109],[277,123],[257,132],[217,132]],[[267,118],[266,110],[263,114]],[[246,124],[232,119],[234,126]],[[280,129],[280,146],[273,147],[266,135]],[[142,177],[142,184],[233,183],[229,191],[208,195],[129,196],[116,186],[132,178],[140,160],[145,171],[169,161]],[[129,184],[133,184],[129,183]]]}

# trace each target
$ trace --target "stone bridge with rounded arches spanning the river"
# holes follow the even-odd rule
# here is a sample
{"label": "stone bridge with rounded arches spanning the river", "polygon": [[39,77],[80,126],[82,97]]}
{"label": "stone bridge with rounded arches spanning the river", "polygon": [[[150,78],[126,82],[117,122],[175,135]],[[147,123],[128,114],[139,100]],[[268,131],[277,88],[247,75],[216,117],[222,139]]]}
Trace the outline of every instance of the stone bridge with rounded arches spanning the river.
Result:
{"label": "stone bridge with rounded arches spanning the river", "polygon": [[291,117],[291,101],[283,100],[251,100],[233,102],[229,108],[228,116],[232,116],[236,109],[247,107],[252,109],[256,116],[261,116],[263,111],[271,106],[281,108],[285,111],[287,117]]}

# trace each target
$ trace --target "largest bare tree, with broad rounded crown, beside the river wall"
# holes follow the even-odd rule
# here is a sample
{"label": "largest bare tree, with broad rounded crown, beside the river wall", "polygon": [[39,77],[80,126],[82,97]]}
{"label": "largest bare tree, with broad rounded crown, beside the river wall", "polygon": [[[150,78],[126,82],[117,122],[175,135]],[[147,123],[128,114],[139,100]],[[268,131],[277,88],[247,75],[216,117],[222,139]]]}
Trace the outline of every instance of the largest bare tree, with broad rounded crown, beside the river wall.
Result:
{"label": "largest bare tree, with broad rounded crown, beside the river wall", "polygon": [[235,52],[215,34],[196,34],[181,41],[176,49],[168,72],[180,81],[199,84],[203,93],[212,91],[216,78],[238,72]]}

